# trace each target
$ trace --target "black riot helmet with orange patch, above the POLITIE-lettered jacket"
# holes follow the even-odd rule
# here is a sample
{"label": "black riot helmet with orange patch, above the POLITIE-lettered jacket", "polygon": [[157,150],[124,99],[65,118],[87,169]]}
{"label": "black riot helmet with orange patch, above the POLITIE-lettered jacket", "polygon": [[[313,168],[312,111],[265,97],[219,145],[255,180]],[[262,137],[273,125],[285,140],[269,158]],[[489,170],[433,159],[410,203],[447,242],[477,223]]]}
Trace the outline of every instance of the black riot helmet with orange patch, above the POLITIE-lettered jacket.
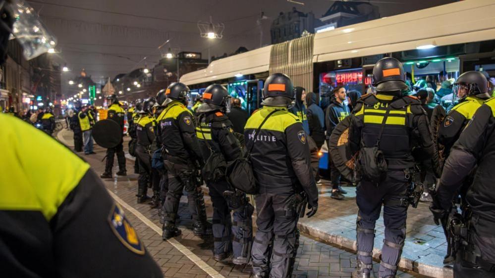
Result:
{"label": "black riot helmet with orange patch, above the POLITIE-lettered jacket", "polygon": [[285,74],[274,73],[265,80],[261,105],[288,106],[294,98],[294,86],[290,78]]}

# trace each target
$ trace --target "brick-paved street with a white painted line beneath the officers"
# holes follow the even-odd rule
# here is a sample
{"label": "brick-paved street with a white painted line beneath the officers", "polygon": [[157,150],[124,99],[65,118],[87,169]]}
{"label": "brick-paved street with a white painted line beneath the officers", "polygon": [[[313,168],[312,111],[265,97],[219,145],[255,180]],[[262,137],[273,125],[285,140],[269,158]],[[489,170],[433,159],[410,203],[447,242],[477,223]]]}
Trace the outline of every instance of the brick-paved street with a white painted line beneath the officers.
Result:
{"label": "brick-paved street with a white painted line beneath the officers", "polygon": [[[58,139],[71,145],[72,133],[63,130]],[[73,144],[73,143],[72,143]],[[124,138],[124,150],[127,152],[127,139]],[[95,155],[81,155],[81,157],[91,164],[93,170],[101,174],[104,170],[103,157],[106,150],[95,146]],[[81,153],[79,153],[81,154]],[[133,224],[139,237],[146,245],[148,251],[153,255],[157,263],[162,268],[166,278],[180,277],[250,277],[251,267],[237,268],[231,263],[216,262],[213,259],[213,237],[199,238],[191,230],[192,221],[187,208],[187,198],[182,196],[179,206],[178,227],[182,230],[182,235],[177,238],[162,239],[162,224],[160,224],[158,210],[150,209],[149,204],[136,203],[137,174],[133,174],[134,161],[126,153],[127,177],[116,177],[104,180],[110,195],[119,203],[126,215]],[[113,173],[117,171],[115,161]],[[151,195],[151,189],[148,190]],[[207,214],[211,222],[212,203],[208,194],[205,194]],[[255,212],[256,213],[256,212]],[[325,215],[326,211],[321,210],[318,215]],[[253,222],[255,221],[253,215]],[[255,223],[253,223],[255,226]],[[350,252],[336,244],[315,238],[309,234],[301,233],[300,246],[294,264],[293,277],[297,278],[329,278],[329,277],[351,277],[356,266],[355,253]],[[377,262],[374,263],[374,271],[379,268]],[[398,272],[399,277],[425,277],[414,272]]]}

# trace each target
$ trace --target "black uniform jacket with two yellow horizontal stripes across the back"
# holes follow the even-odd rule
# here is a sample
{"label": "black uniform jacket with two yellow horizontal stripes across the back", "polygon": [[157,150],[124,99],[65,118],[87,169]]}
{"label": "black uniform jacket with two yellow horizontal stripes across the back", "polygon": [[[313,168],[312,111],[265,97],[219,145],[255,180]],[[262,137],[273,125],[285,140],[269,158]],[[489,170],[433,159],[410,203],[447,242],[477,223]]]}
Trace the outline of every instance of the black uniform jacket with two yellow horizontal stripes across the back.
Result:
{"label": "black uniform jacket with two yellow horizontal stripes across the back", "polygon": [[388,94],[365,94],[358,99],[351,113],[349,126],[352,152],[355,153],[363,145],[376,145],[388,107],[390,111],[379,145],[379,149],[385,155],[388,169],[403,170],[413,167],[414,147],[421,147],[422,157],[432,157],[433,141],[421,102],[410,96]]}

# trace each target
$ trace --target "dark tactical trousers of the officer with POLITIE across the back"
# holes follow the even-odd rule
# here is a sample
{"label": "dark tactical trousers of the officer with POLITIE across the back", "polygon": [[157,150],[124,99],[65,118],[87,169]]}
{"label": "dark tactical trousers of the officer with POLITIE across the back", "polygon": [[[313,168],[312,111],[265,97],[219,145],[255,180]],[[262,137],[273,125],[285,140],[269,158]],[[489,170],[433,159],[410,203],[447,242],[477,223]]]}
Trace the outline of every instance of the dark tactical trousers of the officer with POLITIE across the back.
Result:
{"label": "dark tactical trousers of the officer with POLITIE across the back", "polygon": [[254,273],[270,273],[272,278],[292,274],[299,245],[299,218],[295,208],[287,207],[286,203],[293,194],[293,190],[287,188],[285,192],[256,195],[258,230],[251,251]]}

